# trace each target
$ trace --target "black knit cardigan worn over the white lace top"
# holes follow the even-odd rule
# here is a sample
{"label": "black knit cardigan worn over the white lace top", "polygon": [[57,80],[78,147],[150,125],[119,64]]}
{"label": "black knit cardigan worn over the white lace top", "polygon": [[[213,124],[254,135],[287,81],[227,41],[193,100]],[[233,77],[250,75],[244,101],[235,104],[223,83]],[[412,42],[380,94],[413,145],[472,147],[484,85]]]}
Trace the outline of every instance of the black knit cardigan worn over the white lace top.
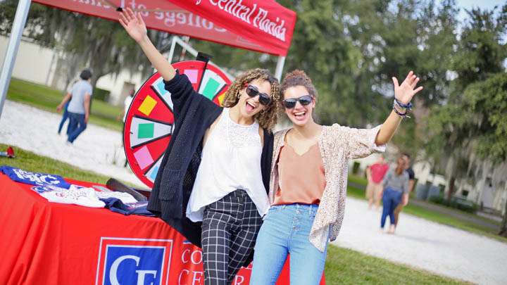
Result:
{"label": "black knit cardigan worn over the white lace top", "polygon": [[[223,108],[194,91],[186,75],[176,72],[164,81],[171,92],[175,118],[173,134],[165,150],[148,203],[153,212],[180,232],[194,245],[201,247],[201,222],[185,216],[187,204],[201,163],[204,132],[222,113]],[[273,156],[273,133],[264,130],[261,170],[266,193],[269,191]],[[247,260],[249,262],[251,258]]]}

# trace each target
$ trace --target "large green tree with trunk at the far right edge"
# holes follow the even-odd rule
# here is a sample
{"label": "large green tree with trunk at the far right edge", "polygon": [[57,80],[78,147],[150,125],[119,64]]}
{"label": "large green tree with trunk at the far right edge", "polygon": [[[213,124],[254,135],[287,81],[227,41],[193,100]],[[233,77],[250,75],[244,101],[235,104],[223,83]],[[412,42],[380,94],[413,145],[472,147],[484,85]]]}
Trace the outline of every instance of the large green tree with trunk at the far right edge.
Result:
{"label": "large green tree with trunk at the far right edge", "polygon": [[[467,11],[470,19],[456,45],[452,65],[456,80],[448,87],[444,106],[432,108],[427,153],[440,161],[450,177],[448,199],[456,178],[470,177],[470,158],[500,163],[506,160],[505,97],[507,5],[499,15]],[[503,112],[503,113],[502,113]],[[502,139],[503,138],[503,139]]]}

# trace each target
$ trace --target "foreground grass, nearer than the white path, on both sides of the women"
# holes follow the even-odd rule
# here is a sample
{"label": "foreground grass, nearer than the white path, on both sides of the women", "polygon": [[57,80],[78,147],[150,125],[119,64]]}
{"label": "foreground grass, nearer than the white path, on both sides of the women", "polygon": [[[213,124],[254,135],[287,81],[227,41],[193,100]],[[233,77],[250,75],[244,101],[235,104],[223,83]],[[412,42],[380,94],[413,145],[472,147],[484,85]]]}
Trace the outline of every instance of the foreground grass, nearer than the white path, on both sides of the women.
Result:
{"label": "foreground grass, nearer than the white path, on both sides of the women", "polygon": [[[5,144],[0,144],[0,151],[6,149]],[[13,149],[16,157],[0,157],[0,165],[100,184],[105,184],[108,179],[104,175],[81,170],[21,148],[13,147]],[[333,245],[327,249],[325,278],[326,284],[465,284]]]}

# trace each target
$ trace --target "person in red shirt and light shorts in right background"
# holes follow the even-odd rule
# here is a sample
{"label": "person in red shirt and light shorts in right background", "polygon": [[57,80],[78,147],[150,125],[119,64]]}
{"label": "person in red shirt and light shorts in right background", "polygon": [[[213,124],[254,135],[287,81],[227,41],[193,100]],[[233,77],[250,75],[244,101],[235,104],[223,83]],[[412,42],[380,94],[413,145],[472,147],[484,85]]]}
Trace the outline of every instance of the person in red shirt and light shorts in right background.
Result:
{"label": "person in red shirt and light shorts in right background", "polygon": [[368,178],[368,186],[366,186],[366,198],[368,199],[368,209],[371,209],[375,202],[376,210],[380,208],[380,192],[382,192],[382,179],[389,165],[384,163],[384,157],[377,156],[377,163],[366,168],[366,176]]}

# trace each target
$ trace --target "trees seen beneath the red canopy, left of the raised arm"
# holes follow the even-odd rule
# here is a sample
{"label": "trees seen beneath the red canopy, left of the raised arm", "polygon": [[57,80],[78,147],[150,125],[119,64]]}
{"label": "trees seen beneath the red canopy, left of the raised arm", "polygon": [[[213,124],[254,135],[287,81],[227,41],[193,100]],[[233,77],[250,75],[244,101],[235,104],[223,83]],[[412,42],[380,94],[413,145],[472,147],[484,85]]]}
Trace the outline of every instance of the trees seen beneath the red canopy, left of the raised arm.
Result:
{"label": "trees seen beneath the red canopy, left of the raised arm", "polygon": [[[0,32],[11,30],[17,1],[0,2]],[[163,39],[162,32],[150,31],[151,37]],[[121,69],[142,72],[147,77],[151,64],[119,23],[58,8],[32,4],[24,31],[42,46],[61,51],[65,82],[75,78],[80,68],[92,70],[92,86],[107,74]],[[64,90],[65,92],[65,90]]]}

